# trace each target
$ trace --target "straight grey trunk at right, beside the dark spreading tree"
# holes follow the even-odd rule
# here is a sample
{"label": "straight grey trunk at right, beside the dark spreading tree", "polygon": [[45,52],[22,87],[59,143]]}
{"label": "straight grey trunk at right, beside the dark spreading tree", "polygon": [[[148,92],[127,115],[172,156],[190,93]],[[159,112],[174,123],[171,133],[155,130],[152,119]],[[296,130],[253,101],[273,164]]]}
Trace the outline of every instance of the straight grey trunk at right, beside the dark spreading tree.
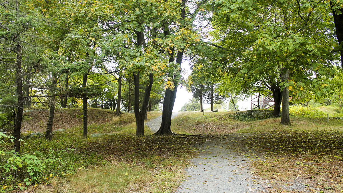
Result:
{"label": "straight grey trunk at right, beside the dark spreading tree", "polygon": [[[284,81],[289,82],[289,71],[285,69],[284,72]],[[289,93],[288,93],[288,86],[283,88],[283,96],[282,96],[282,112],[281,112],[281,122],[280,124],[283,125],[291,125],[291,120],[289,119]]]}

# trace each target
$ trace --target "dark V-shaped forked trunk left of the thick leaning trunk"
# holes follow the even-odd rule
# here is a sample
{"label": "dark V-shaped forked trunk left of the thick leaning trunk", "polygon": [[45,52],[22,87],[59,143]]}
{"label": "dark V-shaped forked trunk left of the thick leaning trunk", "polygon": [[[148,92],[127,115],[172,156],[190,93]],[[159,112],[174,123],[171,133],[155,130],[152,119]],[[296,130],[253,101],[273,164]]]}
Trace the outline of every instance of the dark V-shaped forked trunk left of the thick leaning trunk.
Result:
{"label": "dark V-shaped forked trunk left of the thick leaning trunk", "polygon": [[145,86],[141,111],[139,111],[139,72],[133,73],[134,79],[134,115],[136,118],[136,136],[144,135],[144,119],[146,116],[147,105],[150,99],[150,92],[153,84],[153,74],[149,74],[149,84]]}

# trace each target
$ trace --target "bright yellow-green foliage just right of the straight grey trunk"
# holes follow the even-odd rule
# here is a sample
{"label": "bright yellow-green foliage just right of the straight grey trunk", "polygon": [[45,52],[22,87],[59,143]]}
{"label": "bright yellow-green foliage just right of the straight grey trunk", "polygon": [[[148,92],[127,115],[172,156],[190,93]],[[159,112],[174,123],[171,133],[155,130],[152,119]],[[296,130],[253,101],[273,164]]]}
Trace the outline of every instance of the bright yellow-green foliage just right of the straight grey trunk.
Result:
{"label": "bright yellow-green foliage just right of the straight grey trunk", "polygon": [[289,106],[289,115],[303,117],[325,117],[326,113],[319,111],[315,107],[295,105]]}

